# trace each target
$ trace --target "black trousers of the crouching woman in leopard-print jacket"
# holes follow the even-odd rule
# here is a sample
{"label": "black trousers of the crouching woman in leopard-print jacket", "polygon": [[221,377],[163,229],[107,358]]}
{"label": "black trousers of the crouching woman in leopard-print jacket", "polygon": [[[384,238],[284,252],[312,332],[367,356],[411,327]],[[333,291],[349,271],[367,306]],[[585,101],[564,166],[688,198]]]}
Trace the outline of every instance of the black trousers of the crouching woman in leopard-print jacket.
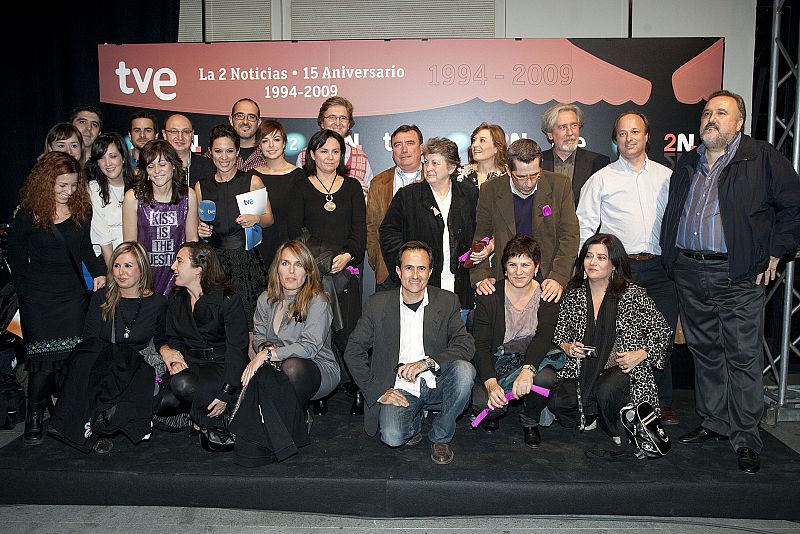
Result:
{"label": "black trousers of the crouching woman in leopard-print jacket", "polygon": [[[624,437],[619,411],[630,402],[630,377],[619,367],[603,370],[594,384],[594,393],[587,398],[582,393],[584,416],[597,417],[597,423],[609,436]],[[547,407],[558,422],[567,428],[575,428],[580,423],[578,411],[577,379],[562,380],[550,391]],[[587,421],[588,422],[588,421]]]}

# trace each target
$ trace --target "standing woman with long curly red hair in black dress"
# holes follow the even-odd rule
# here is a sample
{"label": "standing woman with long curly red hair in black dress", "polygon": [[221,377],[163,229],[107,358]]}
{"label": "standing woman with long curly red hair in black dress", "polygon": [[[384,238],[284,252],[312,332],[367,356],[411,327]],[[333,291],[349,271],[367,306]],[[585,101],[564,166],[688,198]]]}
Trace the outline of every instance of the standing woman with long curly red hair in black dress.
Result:
{"label": "standing woman with long curly red hair in black dress", "polygon": [[58,396],[57,375],[63,376],[81,340],[87,307],[81,261],[94,278],[93,289],[105,285],[105,265],[89,237],[91,214],[78,161],[62,152],[43,155],[20,190],[8,241],[28,357],[28,445],[44,439],[42,417],[50,397]]}

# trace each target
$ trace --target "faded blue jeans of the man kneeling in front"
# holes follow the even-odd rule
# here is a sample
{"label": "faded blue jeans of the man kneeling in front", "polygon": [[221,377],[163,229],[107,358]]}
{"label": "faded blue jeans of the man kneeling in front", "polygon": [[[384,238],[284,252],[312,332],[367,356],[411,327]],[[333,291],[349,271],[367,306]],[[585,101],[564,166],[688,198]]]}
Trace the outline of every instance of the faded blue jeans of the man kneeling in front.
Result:
{"label": "faded blue jeans of the man kneeling in front", "polygon": [[464,360],[450,362],[436,377],[436,387],[430,389],[421,381],[420,395],[415,397],[401,391],[408,407],[381,404],[379,416],[381,441],[390,447],[399,447],[422,429],[422,410],[426,406],[441,404],[433,420],[428,439],[433,443],[450,443],[456,433],[456,419],[464,411],[475,381],[475,368]]}

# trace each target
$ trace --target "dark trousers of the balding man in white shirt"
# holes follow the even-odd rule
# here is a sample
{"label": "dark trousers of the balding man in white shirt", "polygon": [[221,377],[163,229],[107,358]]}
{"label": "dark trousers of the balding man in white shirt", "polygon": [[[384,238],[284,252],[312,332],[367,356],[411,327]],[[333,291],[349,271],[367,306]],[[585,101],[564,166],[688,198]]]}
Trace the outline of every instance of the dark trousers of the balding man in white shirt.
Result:
{"label": "dark trousers of the balding man in white shirt", "polygon": [[[661,264],[661,256],[654,256],[649,260],[630,260],[630,266],[633,280],[647,290],[656,309],[664,316],[674,334],[678,324],[678,293],[675,282]],[[672,345],[670,342],[667,346],[664,370],[653,368],[660,404],[672,404]]]}

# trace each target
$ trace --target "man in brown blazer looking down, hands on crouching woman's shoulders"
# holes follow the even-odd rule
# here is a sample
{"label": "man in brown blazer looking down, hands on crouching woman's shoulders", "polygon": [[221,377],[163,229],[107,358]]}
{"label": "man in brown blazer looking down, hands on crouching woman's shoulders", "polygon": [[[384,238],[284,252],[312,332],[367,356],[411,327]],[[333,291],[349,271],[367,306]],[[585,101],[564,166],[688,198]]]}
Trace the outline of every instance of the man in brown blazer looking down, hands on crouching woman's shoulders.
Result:
{"label": "man in brown blazer looking down, hands on crouching woman's shoulders", "polygon": [[[572,184],[561,174],[543,171],[542,152],[536,141],[518,139],[508,147],[511,177],[484,182],[478,197],[475,240],[494,238],[502,251],[517,234],[535,239],[542,249],[542,298],[558,301],[572,275],[578,255],[578,217]],[[499,255],[490,266],[484,260],[472,268],[470,280],[479,295],[494,292],[504,278]]]}

